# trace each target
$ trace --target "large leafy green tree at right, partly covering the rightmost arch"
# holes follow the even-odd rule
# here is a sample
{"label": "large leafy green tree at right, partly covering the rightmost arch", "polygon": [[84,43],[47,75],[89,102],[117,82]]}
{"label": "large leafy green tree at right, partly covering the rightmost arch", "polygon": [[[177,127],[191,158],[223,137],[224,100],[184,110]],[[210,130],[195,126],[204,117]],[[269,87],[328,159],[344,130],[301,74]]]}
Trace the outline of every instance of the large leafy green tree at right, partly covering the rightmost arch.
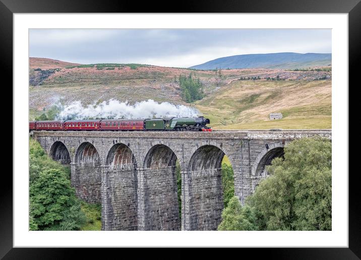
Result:
{"label": "large leafy green tree at right, partly covering the rightmost arch", "polygon": [[266,230],[331,230],[331,142],[293,141],[247,200]]}

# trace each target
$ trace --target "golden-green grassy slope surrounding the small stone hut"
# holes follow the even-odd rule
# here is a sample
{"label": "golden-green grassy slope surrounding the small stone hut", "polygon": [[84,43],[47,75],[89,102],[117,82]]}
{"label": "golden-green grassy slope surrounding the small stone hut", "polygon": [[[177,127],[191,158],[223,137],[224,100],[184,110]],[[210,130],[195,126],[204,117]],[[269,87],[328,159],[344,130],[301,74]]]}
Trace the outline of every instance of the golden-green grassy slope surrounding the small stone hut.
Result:
{"label": "golden-green grassy slope surrounding the small stone hut", "polygon": [[331,128],[329,80],[234,81],[195,103],[215,129]]}

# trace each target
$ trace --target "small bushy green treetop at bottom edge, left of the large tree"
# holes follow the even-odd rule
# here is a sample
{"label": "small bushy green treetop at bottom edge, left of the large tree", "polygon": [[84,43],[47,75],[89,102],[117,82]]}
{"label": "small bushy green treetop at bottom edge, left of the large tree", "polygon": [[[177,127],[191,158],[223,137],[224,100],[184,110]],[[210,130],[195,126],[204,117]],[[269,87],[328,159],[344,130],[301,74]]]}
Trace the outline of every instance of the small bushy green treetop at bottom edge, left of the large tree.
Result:
{"label": "small bushy green treetop at bottom edge, left of the large tree", "polygon": [[256,214],[250,206],[242,207],[237,197],[229,200],[222,212],[222,222],[218,230],[258,230]]}

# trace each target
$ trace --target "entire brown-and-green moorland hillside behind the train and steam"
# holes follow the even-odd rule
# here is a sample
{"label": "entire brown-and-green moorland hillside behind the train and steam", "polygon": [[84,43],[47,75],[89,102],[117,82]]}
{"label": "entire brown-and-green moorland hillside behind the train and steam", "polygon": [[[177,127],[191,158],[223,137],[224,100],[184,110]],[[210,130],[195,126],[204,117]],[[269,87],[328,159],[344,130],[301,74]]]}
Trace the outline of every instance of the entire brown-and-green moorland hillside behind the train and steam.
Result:
{"label": "entire brown-and-green moorland hillside behind the train and steam", "polygon": [[[178,81],[190,73],[205,93],[194,104],[182,100]],[[215,129],[331,128],[331,67],[203,71],[107,63],[30,69],[29,74],[30,119],[56,102],[153,99],[196,106]],[[271,112],[282,112],[283,119],[270,121]]]}

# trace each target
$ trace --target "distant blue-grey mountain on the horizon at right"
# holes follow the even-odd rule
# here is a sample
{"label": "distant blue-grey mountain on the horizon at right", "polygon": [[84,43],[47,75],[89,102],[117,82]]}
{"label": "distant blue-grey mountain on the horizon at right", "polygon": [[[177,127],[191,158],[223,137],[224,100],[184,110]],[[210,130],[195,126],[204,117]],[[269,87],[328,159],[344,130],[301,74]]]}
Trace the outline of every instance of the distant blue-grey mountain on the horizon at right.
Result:
{"label": "distant blue-grey mountain on the horizon at right", "polygon": [[222,57],[190,67],[190,69],[300,69],[330,64],[331,53],[280,52]]}

